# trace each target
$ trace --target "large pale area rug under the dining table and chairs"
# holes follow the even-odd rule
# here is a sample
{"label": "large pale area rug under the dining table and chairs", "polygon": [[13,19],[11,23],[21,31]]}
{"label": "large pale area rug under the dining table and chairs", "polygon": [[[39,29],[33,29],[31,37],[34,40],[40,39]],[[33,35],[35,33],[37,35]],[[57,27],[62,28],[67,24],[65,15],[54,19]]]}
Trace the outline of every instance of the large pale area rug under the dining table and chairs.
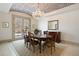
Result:
{"label": "large pale area rug under the dining table and chairs", "polygon": [[56,44],[56,51],[54,52],[53,49],[52,54],[50,48],[46,48],[44,51],[42,51],[42,53],[39,53],[39,49],[36,49],[34,53],[33,49],[26,47],[24,40],[13,41],[12,44],[20,56],[60,56],[66,48],[65,46]]}

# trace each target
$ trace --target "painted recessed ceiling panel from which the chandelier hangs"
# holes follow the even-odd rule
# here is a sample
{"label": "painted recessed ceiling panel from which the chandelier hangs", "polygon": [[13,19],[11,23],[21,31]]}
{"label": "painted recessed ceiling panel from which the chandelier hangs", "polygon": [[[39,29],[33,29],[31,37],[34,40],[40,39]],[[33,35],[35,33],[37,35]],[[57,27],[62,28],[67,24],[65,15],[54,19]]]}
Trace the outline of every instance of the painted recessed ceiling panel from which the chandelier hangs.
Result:
{"label": "painted recessed ceiling panel from which the chandelier hangs", "polygon": [[23,12],[31,15],[37,8],[48,13],[72,4],[74,3],[13,3],[10,11]]}

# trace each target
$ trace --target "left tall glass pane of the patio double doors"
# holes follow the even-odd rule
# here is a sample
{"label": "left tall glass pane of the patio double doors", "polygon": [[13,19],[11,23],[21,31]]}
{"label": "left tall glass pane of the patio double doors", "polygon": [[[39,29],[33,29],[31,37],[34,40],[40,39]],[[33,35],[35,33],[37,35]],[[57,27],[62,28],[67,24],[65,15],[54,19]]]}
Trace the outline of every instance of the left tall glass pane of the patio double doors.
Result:
{"label": "left tall glass pane of the patio double doors", "polygon": [[22,18],[15,17],[15,39],[22,39]]}

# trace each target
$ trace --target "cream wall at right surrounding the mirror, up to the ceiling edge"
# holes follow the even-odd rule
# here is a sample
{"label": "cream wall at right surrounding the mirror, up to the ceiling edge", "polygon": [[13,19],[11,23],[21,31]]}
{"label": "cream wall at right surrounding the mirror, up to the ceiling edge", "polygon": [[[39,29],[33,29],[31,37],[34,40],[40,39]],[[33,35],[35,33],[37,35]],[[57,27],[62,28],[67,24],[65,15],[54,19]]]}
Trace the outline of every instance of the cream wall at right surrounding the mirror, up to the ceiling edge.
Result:
{"label": "cream wall at right surrounding the mirror, up to the ceiling edge", "polygon": [[39,21],[38,26],[41,30],[48,29],[48,21],[59,20],[58,31],[61,32],[61,39],[79,43],[79,4],[52,12],[44,19]]}

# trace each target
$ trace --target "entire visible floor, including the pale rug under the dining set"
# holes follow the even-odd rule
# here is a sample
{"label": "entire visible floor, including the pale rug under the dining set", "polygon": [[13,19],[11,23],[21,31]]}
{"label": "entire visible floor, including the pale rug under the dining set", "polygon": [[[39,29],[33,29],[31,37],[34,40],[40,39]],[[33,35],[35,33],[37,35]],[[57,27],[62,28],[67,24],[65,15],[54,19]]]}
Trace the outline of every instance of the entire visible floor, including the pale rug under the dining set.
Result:
{"label": "entire visible floor, including the pale rug under the dining set", "polygon": [[32,49],[26,48],[23,40],[0,43],[0,56],[79,56],[79,46],[60,43],[56,44],[56,51],[46,48],[44,52],[39,53],[38,48],[33,53]]}

